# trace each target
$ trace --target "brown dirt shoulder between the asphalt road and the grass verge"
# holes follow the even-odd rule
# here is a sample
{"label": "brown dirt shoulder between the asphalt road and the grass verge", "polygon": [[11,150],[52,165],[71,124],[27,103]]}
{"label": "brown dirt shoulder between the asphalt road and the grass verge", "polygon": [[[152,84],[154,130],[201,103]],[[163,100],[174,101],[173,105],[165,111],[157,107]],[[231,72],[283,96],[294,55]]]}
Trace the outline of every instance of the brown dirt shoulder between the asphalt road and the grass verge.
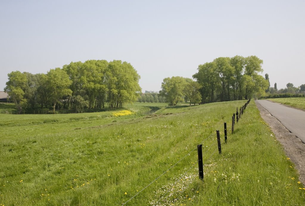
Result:
{"label": "brown dirt shoulder between the asphalt road and the grass verge", "polygon": [[275,137],[281,142],[286,155],[295,164],[300,174],[300,181],[305,184],[305,144],[296,137],[295,134],[289,132],[282,123],[272,116],[258,101],[255,101],[257,108],[260,110],[261,117],[271,127]]}

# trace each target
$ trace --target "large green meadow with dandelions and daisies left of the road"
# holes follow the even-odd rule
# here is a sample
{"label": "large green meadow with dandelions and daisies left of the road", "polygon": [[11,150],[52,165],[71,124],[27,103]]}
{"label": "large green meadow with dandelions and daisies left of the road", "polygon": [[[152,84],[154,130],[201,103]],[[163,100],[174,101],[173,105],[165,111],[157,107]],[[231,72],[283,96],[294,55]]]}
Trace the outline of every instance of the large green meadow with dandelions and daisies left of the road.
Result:
{"label": "large green meadow with dandelions and daisies left of the road", "polygon": [[244,103],[137,103],[118,117],[0,114],[0,206],[122,205],[136,194],[125,205],[304,205],[297,172],[253,101],[231,135]]}

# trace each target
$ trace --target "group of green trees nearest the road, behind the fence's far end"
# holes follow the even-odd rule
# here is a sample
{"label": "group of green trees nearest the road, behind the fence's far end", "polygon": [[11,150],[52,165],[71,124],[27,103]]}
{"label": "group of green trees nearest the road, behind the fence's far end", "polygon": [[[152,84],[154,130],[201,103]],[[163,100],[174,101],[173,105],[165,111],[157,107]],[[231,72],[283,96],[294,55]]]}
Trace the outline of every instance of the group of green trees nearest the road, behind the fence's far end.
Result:
{"label": "group of green trees nearest the road, behind the fence's far end", "polygon": [[268,81],[263,60],[256,56],[219,57],[198,66],[196,81],[183,77],[167,77],[161,84],[161,96],[169,105],[188,100],[191,103],[242,100],[264,96]]}

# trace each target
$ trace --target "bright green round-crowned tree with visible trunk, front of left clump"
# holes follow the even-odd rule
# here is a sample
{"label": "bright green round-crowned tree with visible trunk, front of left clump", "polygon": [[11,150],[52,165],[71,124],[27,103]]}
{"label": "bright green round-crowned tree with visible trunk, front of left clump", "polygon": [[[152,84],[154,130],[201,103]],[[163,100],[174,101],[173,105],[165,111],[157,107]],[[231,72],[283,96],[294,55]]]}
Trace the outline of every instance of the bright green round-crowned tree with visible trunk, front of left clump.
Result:
{"label": "bright green round-crowned tree with visible trunk, front of left clump", "polygon": [[71,80],[66,71],[59,67],[48,71],[46,76],[46,88],[52,101],[53,113],[55,113],[55,106],[59,99],[72,94],[72,90],[69,88]]}

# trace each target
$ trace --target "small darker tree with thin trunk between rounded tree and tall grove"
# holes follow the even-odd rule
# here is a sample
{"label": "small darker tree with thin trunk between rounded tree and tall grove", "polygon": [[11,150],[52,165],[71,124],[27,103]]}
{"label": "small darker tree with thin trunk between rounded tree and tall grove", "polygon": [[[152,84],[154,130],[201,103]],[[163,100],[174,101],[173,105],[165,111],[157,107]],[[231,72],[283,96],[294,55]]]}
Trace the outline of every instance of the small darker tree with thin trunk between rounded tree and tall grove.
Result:
{"label": "small darker tree with thin trunk between rounded tree and tall grove", "polygon": [[184,94],[185,94],[185,98],[190,101],[190,106],[191,106],[191,103],[193,103],[193,102],[196,102],[196,103],[201,102],[202,96],[199,92],[200,88],[202,88],[202,85],[193,80],[191,80],[185,84]]}

